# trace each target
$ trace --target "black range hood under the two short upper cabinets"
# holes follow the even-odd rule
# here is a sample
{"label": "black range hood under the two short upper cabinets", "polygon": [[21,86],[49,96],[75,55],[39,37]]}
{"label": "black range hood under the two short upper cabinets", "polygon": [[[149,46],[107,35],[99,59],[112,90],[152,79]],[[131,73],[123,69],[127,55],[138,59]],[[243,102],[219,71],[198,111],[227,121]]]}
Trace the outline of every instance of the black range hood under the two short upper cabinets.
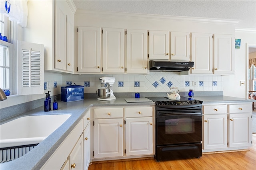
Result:
{"label": "black range hood under the two short upper cabinets", "polygon": [[149,61],[150,71],[187,71],[194,66],[194,61]]}

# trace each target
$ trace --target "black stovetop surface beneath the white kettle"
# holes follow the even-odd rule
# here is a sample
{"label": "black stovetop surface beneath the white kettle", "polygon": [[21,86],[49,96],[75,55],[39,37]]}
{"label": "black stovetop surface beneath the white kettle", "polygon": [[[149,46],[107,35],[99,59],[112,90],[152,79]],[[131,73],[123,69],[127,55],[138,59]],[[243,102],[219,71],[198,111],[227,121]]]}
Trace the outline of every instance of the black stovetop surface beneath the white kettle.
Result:
{"label": "black stovetop surface beneath the white kettle", "polygon": [[156,105],[193,105],[193,104],[202,104],[199,100],[194,100],[193,98],[186,98],[181,96],[180,100],[170,100],[166,97],[146,97],[153,102],[156,102]]}

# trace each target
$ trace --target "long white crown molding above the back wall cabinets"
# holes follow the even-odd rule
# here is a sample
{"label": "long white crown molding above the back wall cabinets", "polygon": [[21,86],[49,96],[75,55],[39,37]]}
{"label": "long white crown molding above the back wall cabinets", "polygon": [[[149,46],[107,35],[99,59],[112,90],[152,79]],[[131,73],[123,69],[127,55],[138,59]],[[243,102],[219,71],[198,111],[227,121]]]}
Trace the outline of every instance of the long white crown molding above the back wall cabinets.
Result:
{"label": "long white crown molding above the back wall cabinets", "polygon": [[184,16],[166,16],[157,14],[138,14],[127,12],[109,12],[109,11],[96,11],[96,10],[76,10],[75,15],[86,16],[99,16],[110,18],[134,18],[144,20],[162,20],[162,21],[183,21],[183,22],[200,22],[200,23],[221,23],[236,25],[240,20],[226,20],[218,18],[199,18],[199,17],[184,17]]}

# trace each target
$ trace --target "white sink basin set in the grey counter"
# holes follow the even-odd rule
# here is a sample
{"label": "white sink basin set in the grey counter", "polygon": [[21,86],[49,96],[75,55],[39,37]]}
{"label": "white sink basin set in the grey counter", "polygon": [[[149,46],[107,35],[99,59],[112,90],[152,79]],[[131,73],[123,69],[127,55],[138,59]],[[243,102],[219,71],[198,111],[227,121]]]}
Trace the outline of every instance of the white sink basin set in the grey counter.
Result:
{"label": "white sink basin set in the grey counter", "polygon": [[71,114],[33,115],[4,123],[0,125],[0,146],[5,148],[40,143],[70,116]]}

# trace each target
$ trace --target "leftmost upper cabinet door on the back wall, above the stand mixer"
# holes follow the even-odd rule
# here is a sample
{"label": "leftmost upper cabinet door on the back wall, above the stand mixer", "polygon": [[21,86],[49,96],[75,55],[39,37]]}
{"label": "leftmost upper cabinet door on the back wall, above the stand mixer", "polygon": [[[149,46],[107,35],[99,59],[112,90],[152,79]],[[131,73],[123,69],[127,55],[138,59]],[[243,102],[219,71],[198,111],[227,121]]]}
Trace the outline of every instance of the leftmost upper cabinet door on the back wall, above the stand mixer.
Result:
{"label": "leftmost upper cabinet door on the back wall, above the stand mixer", "polygon": [[100,27],[78,27],[78,72],[101,72],[100,31]]}

